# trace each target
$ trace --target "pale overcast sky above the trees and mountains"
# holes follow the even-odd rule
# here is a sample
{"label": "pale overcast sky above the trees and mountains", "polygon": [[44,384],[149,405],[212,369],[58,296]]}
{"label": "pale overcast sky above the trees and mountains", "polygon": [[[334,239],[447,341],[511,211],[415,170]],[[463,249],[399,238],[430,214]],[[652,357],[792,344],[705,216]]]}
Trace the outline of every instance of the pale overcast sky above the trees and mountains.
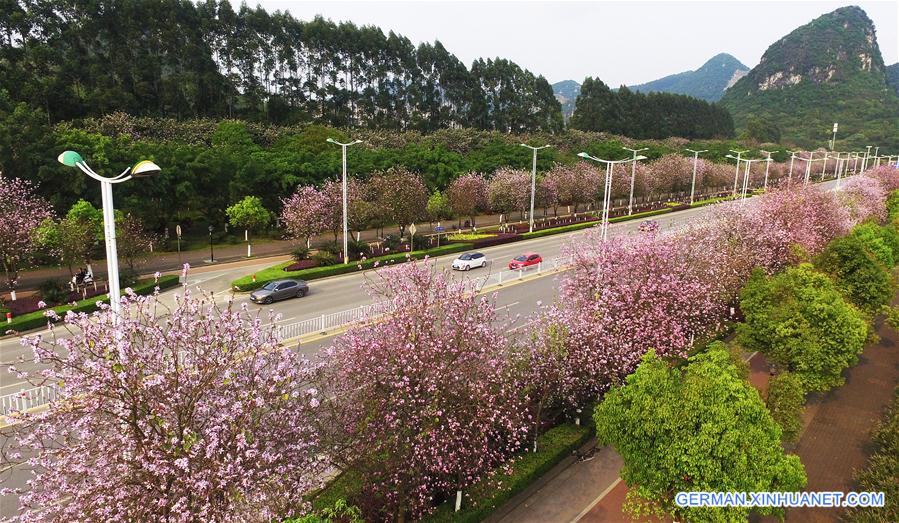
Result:
{"label": "pale overcast sky above the trees and mountains", "polygon": [[376,25],[416,45],[440,40],[466,66],[479,57],[508,58],[550,83],[593,76],[634,85],[696,69],[722,52],[753,67],[771,43],[845,5],[860,6],[874,21],[887,65],[899,61],[899,0],[246,1],[302,20],[320,14]]}

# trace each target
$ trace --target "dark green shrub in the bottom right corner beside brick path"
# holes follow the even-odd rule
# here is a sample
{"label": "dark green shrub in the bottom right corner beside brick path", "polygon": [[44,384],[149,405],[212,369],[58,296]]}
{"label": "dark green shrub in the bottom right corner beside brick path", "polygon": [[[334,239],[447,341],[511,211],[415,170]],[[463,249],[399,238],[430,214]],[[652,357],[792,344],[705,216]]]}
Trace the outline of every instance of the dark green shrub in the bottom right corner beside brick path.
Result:
{"label": "dark green shrub in the bottom right corner beside brick path", "polygon": [[883,492],[884,506],[851,508],[846,519],[851,522],[880,523],[899,521],[899,387],[893,392],[893,402],[874,428],[876,450],[867,466],[856,473],[859,490]]}

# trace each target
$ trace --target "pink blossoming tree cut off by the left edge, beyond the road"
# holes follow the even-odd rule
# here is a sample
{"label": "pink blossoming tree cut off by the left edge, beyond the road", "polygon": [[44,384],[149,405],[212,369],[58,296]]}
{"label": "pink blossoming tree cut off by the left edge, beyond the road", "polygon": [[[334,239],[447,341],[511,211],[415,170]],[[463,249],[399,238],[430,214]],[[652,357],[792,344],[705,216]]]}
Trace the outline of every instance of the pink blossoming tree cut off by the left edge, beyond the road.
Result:
{"label": "pink blossoming tree cut off by the left edge, beyond the road", "polygon": [[19,269],[38,247],[36,233],[51,218],[50,204],[35,193],[31,182],[0,175],[0,260],[13,297]]}

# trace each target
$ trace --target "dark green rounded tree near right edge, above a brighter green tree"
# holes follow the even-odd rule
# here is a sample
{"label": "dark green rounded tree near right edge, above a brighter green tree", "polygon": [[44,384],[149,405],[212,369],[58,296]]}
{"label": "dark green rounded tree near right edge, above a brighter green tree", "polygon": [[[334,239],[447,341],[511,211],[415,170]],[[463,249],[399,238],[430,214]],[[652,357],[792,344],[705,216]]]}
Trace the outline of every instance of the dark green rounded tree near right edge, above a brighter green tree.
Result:
{"label": "dark green rounded tree near right edge, above a brighter green tree", "polygon": [[876,312],[893,298],[890,271],[859,236],[833,240],[818,255],[815,265],[833,277],[849,301],[868,313]]}

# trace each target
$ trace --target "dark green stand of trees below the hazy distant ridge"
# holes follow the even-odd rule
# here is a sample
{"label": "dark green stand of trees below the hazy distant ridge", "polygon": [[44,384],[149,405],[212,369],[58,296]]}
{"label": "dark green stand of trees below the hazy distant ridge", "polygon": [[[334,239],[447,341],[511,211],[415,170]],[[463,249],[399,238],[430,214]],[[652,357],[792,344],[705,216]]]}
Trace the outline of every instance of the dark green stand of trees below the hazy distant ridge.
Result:
{"label": "dark green stand of trees below the hazy distant ridge", "polygon": [[[633,138],[726,138],[734,121],[726,109],[691,96],[640,93],[621,86],[613,91],[589,76],[581,85],[569,125],[582,131],[605,131]],[[777,136],[779,141],[780,136]]]}

